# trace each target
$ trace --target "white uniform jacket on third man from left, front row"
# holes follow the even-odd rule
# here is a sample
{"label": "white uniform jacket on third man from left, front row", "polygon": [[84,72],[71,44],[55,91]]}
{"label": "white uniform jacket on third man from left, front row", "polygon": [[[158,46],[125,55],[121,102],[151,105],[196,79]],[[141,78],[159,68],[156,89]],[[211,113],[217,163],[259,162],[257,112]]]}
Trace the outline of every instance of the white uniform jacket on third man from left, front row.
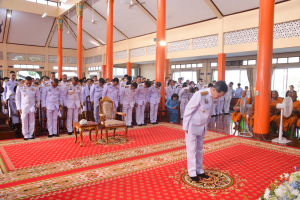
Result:
{"label": "white uniform jacket on third man from left, front row", "polygon": [[81,86],[67,84],[62,92],[62,102],[67,108],[80,108],[83,103]]}

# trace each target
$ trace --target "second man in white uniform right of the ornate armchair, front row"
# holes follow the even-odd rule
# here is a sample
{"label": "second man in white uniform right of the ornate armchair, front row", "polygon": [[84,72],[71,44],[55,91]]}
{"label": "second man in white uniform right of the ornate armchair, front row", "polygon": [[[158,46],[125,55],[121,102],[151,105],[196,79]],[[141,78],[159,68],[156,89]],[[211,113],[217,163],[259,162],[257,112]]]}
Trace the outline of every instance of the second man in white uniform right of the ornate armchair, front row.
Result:
{"label": "second man in white uniform right of the ornate armchair, front row", "polygon": [[149,87],[151,87],[150,81],[146,81],[144,84],[140,84],[136,94],[136,123],[138,126],[146,126],[145,124],[145,107],[149,105]]}

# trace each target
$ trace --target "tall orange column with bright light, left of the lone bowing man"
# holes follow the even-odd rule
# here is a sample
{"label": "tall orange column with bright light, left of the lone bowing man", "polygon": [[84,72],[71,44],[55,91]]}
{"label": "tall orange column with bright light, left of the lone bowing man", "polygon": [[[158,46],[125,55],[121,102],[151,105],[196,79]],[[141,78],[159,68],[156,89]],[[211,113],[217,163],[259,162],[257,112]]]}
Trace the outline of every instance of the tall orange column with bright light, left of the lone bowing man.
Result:
{"label": "tall orange column with bright light, left of the lone bowing man", "polygon": [[[166,41],[166,0],[157,0],[157,30],[158,41]],[[157,42],[156,48],[156,82],[161,82],[162,109],[165,109],[165,66],[166,52],[165,46]]]}

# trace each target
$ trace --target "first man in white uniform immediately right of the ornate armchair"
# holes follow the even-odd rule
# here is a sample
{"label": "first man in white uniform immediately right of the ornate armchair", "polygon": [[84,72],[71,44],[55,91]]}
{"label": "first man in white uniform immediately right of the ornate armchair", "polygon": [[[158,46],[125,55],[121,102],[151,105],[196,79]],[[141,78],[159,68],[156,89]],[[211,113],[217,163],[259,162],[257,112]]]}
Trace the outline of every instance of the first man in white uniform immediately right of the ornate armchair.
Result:
{"label": "first man in white uniform immediately right of the ornate armchair", "polygon": [[137,94],[137,83],[132,83],[131,85],[126,85],[121,92],[120,99],[122,101],[122,112],[126,114],[125,122],[128,128],[132,128],[132,109],[137,104],[136,101],[136,94]]}

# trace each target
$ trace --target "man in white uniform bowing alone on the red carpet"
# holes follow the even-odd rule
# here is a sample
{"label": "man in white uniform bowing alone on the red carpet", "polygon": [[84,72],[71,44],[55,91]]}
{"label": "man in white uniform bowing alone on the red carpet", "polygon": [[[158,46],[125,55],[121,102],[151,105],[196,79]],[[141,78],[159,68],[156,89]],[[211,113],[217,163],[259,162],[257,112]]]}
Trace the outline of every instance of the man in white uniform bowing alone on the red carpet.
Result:
{"label": "man in white uniform bowing alone on the red carpet", "polygon": [[185,131],[188,173],[193,181],[209,178],[202,169],[203,139],[211,117],[213,101],[224,96],[226,92],[226,83],[218,81],[213,87],[196,92],[185,109],[182,129]]}

